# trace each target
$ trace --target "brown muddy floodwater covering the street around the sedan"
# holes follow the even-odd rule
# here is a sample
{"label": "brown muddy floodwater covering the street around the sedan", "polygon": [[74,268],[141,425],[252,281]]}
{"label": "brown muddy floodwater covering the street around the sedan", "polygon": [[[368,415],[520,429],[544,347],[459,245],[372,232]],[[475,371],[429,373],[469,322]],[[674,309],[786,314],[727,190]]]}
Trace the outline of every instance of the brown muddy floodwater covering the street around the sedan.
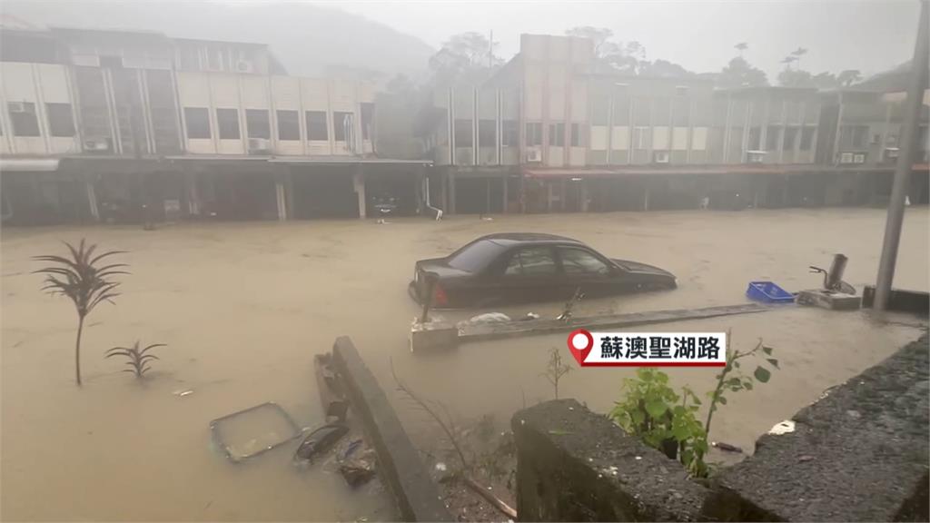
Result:
{"label": "brown muddy floodwater covering the street around the sedan", "polygon": [[[571,235],[605,254],[658,264],[680,288],[586,302],[578,315],[743,302],[746,282],[817,286],[807,265],[850,258],[848,281],[875,275],[884,213],[876,209],[671,212],[574,216],[211,223],[7,230],[2,239],[2,517],[17,520],[390,519],[377,489],[354,493],[332,463],[299,470],[293,446],[251,463],[227,463],[209,443],[208,422],[265,401],[301,425],[321,421],[312,355],[339,335],[356,342],[383,384],[390,365],[422,395],[461,419],[485,412],[501,426],[514,409],[551,396],[539,373],[564,336],[469,344],[445,355],[411,355],[406,331],[418,310],[406,296],[412,263],[477,235],[537,231]],[[927,208],[908,211],[896,286],[927,289]],[[85,385],[73,383],[74,314],[38,291],[30,257],[82,235],[129,251],[132,275],[117,305],[101,305],[85,329]],[[505,310],[553,315],[556,304]],[[473,314],[473,313],[472,313]],[[470,313],[445,313],[460,319]],[[781,371],[715,415],[714,439],[751,449],[759,433],[916,337],[918,323],[867,313],[791,309],[671,324],[662,329],[733,329],[776,347]],[[163,342],[151,379],[135,382],[104,360],[113,345]],[[609,409],[630,372],[576,369],[562,395]],[[712,371],[678,369],[678,383],[711,387]],[[386,388],[391,388],[386,386]],[[176,396],[180,390],[193,390]],[[397,399],[397,398],[395,398]],[[429,429],[401,409],[420,441]]]}

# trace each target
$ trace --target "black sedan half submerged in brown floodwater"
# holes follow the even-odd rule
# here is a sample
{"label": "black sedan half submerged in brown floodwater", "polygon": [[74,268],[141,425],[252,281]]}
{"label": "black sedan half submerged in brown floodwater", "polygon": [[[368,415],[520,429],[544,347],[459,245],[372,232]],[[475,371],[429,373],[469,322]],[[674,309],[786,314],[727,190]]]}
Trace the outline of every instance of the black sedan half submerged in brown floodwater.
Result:
{"label": "black sedan half submerged in brown floodwater", "polygon": [[[445,258],[420,260],[410,282],[417,302],[434,307],[488,307],[675,288],[675,276],[639,262],[614,260],[565,236],[482,236]],[[432,289],[431,289],[432,288]]]}

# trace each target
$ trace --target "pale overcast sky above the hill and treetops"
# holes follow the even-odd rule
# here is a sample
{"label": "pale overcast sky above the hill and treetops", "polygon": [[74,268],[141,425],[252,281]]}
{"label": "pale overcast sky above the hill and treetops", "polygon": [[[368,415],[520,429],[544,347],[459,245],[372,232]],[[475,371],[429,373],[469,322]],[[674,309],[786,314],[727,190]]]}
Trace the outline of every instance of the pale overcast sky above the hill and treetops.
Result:
{"label": "pale overcast sky above the hill and treetops", "polygon": [[521,33],[563,34],[578,25],[606,27],[620,41],[644,45],[646,58],[671,60],[696,71],[718,71],[747,42],[747,60],[777,74],[797,47],[808,49],[802,68],[813,73],[858,69],[879,73],[913,53],[917,0],[807,0],[708,2],[316,2],[364,15],[439,47],[450,34],[494,32],[498,54],[519,50]]}

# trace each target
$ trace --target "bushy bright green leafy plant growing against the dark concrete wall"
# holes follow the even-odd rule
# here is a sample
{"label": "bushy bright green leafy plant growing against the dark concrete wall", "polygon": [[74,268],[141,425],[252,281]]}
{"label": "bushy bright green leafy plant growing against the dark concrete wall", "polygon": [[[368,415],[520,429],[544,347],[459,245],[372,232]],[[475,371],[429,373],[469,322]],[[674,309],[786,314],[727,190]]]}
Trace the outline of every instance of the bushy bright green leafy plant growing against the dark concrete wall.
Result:
{"label": "bushy bright green leafy plant growing against the dark concrete wall", "polygon": [[677,458],[691,476],[707,476],[707,433],[697,421],[697,395],[688,387],[676,393],[669,375],[651,368],[637,369],[636,378],[624,380],[623,392],[608,416],[646,445]]}

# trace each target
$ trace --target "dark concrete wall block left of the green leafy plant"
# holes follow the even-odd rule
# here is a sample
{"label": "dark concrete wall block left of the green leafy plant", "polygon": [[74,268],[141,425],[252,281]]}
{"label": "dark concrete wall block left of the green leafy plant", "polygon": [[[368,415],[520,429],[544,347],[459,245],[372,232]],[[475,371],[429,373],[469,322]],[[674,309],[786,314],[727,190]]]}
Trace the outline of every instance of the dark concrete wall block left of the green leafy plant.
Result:
{"label": "dark concrete wall block left of the green leafy plant", "polygon": [[694,521],[707,490],[574,399],[513,415],[521,521]]}

